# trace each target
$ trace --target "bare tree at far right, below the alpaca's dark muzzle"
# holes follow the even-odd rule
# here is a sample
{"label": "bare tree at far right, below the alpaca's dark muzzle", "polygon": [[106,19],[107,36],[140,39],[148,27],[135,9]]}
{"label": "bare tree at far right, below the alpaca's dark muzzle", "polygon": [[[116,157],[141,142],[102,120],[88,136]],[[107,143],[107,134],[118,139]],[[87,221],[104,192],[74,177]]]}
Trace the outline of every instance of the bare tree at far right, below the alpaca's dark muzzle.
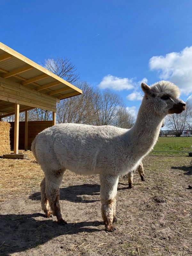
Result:
{"label": "bare tree at far right, below the alpaca's dark muzzle", "polygon": [[176,137],[180,137],[183,130],[186,130],[189,122],[190,104],[186,103],[186,110],[181,114],[168,115],[165,119],[166,126],[174,131]]}

